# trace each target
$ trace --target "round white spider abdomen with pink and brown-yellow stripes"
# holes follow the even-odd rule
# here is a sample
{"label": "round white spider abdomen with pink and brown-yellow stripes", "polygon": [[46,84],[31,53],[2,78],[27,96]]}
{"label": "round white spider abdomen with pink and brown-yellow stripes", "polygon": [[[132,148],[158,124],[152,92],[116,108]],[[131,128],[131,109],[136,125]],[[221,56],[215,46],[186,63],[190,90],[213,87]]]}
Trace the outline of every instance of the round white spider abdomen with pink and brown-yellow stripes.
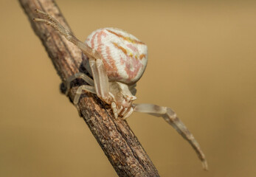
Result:
{"label": "round white spider abdomen with pink and brown-yellow stripes", "polygon": [[[91,32],[85,43],[103,57],[108,79],[128,85],[142,77],[148,60],[148,47],[134,35],[117,28]],[[83,55],[83,60],[88,58]],[[91,74],[89,63],[86,69]]]}

